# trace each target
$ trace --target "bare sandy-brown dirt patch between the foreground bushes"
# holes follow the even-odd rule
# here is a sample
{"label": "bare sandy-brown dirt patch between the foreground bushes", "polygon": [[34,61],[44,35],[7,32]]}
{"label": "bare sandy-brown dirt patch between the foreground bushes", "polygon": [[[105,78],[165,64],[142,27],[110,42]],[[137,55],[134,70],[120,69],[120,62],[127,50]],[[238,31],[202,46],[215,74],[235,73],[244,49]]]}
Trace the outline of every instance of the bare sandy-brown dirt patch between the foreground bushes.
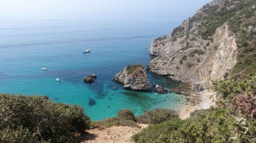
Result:
{"label": "bare sandy-brown dirt patch between the foreground bushes", "polygon": [[87,130],[89,135],[85,136],[86,142],[91,143],[116,143],[116,142],[132,142],[131,136],[140,132],[143,128],[148,127],[147,124],[139,124],[141,128],[127,127],[127,126],[113,126],[111,128],[104,129],[90,129]]}

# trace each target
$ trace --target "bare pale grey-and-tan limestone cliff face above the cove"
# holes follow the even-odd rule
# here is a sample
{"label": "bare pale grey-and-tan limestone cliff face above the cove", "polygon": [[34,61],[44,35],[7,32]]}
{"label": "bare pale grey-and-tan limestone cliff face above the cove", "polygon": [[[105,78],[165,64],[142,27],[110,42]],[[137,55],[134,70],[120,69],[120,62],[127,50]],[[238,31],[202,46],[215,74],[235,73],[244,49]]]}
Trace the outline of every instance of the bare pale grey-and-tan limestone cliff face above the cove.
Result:
{"label": "bare pale grey-and-tan limestone cliff face above the cove", "polygon": [[237,55],[235,38],[226,24],[216,29],[213,39],[213,42],[186,40],[186,46],[180,44],[184,38],[174,42],[171,38],[153,41],[150,52],[158,56],[149,63],[149,70],[181,82],[200,83],[207,88],[212,79],[224,78],[236,63]]}

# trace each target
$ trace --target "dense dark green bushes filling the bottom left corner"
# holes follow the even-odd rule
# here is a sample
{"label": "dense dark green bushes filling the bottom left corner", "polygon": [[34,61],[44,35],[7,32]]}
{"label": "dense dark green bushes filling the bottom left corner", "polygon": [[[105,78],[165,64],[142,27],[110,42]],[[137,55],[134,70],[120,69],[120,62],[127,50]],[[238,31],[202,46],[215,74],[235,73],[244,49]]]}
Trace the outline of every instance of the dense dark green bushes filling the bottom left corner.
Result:
{"label": "dense dark green bushes filling the bottom left corner", "polygon": [[0,94],[0,142],[80,142],[89,123],[77,105]]}

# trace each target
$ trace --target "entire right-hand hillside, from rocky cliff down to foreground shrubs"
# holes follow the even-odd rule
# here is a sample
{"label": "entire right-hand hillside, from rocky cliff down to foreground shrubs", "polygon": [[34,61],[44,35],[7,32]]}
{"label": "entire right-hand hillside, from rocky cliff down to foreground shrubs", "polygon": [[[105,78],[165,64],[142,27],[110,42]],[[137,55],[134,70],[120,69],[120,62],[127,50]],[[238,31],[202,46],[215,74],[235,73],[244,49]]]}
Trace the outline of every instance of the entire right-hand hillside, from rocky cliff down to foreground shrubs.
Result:
{"label": "entire right-hand hillside, from rocky cliff down to foreground shrubs", "polygon": [[214,0],[152,41],[149,70],[190,83],[199,104],[215,106],[150,125],[135,142],[256,142],[255,11],[256,1]]}

